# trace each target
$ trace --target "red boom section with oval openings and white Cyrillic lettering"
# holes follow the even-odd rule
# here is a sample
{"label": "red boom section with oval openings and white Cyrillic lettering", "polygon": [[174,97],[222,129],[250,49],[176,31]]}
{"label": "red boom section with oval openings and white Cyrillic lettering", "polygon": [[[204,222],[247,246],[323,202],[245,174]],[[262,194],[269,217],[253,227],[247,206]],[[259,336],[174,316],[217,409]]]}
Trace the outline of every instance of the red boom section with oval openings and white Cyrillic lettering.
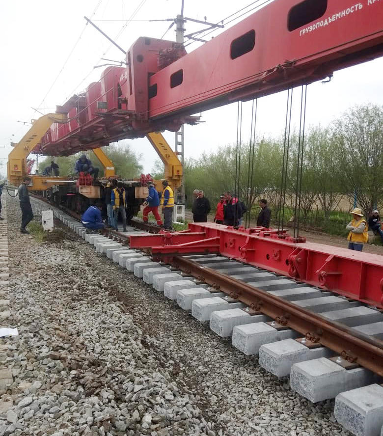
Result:
{"label": "red boom section with oval openings and white Cyrillic lettering", "polygon": [[379,0],[274,0],[150,77],[149,118],[321,80],[383,54]]}

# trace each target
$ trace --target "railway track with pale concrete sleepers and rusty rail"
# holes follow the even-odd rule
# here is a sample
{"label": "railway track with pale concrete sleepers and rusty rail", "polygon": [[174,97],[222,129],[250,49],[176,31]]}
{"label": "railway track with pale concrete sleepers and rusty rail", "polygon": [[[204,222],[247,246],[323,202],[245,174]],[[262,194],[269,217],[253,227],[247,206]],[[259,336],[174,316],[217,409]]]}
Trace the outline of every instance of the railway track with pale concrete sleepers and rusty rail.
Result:
{"label": "railway track with pale concrete sleepers and rusty rail", "polygon": [[383,314],[365,304],[218,254],[170,263],[130,249],[128,232],[86,234],[79,217],[54,209],[97,252],[126,268],[313,403],[335,398],[334,414],[356,435],[383,425]]}

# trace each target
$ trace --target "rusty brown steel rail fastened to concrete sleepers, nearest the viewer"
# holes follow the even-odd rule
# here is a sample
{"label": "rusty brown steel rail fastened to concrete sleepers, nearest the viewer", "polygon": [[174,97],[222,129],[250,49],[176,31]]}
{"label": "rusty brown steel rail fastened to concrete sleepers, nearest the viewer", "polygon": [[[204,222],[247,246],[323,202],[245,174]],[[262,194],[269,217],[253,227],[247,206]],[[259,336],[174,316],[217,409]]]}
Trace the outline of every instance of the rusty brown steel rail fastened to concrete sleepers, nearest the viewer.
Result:
{"label": "rusty brown steel rail fastened to concrete sleepers, nearest the viewer", "polygon": [[[156,255],[158,257],[158,255]],[[303,309],[290,301],[275,297],[245,282],[221,274],[182,256],[166,257],[177,269],[192,274],[215,289],[239,300],[255,311],[264,313],[284,327],[296,330],[312,342],[319,343],[344,359],[355,362],[383,376],[383,342],[363,335],[342,324]]]}

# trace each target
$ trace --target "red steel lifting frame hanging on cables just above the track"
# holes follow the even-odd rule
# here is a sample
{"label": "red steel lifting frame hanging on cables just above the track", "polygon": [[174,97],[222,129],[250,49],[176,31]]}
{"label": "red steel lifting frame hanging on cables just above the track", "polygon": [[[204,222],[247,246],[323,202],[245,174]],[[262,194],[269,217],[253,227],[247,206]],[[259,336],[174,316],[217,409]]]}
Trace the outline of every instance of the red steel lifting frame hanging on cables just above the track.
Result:
{"label": "red steel lifting frame hanging on cables just above the track", "polygon": [[300,241],[277,230],[206,222],[190,223],[184,232],[131,236],[130,246],[162,258],[220,253],[383,308],[383,256]]}

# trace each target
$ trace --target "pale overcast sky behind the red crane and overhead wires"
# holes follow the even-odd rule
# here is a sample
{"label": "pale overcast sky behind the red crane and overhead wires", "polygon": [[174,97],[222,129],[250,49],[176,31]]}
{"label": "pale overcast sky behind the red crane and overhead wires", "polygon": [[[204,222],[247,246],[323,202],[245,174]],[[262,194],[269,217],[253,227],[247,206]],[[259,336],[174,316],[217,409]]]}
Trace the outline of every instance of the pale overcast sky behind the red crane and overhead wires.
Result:
{"label": "pale overcast sky behind the red crane and overhead wires", "polygon": [[[204,20],[206,16],[207,21],[219,22],[249,3],[250,0],[185,0],[184,15],[199,20]],[[3,174],[6,172],[10,141],[18,142],[27,132],[28,127],[18,121],[40,116],[31,108],[43,113],[55,111],[56,105],[82,91],[90,82],[99,80],[103,68],[93,67],[107,62],[101,60],[102,57],[123,60],[123,54],[105,37],[90,25],[85,26],[84,15],[128,50],[139,36],[161,38],[169,23],[149,20],[173,18],[180,13],[180,8],[181,0],[0,1],[3,56],[0,71],[0,171]],[[128,22],[132,16],[133,20]],[[186,33],[200,28],[200,25],[189,22]],[[215,32],[211,36],[217,34]],[[174,27],[164,38],[175,40]],[[199,44],[191,44],[187,51],[192,51]],[[356,104],[382,104],[382,71],[383,58],[380,58],[335,72],[329,83],[309,85],[307,124],[326,125]],[[298,97],[298,92],[295,95]],[[279,135],[284,128],[285,110],[286,92],[259,99],[257,134]],[[249,136],[250,114],[250,104],[247,103],[243,114],[245,140]],[[297,115],[298,107],[294,111],[298,123]],[[236,104],[203,112],[204,123],[186,126],[186,157],[198,157],[204,151],[234,142],[236,119]],[[164,136],[171,145],[174,144],[173,133],[167,132]],[[128,143],[143,155],[144,172],[149,172],[157,159],[149,142],[144,138],[129,140]]]}

